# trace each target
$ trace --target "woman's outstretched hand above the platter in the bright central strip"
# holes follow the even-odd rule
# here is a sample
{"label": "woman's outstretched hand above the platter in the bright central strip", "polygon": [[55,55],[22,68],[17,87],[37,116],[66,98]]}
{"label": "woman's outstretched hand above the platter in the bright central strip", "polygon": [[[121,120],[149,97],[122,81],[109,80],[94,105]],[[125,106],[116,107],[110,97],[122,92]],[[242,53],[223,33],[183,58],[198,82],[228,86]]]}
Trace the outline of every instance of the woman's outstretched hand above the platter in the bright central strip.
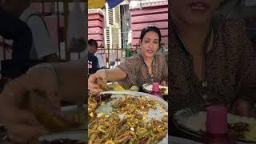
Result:
{"label": "woman's outstretched hand above the platter in the bright central strip", "polygon": [[92,94],[99,94],[103,92],[101,86],[98,85],[98,80],[102,80],[101,83],[106,83],[106,71],[98,70],[95,74],[91,74],[88,78],[88,88]]}

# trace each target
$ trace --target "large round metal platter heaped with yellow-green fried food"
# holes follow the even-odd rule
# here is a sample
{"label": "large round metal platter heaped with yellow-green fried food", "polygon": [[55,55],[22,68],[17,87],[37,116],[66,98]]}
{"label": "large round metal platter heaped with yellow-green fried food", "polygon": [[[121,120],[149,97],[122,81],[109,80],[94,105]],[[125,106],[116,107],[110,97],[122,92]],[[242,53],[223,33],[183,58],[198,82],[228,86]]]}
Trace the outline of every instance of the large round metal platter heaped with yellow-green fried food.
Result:
{"label": "large round metal platter heaped with yellow-green fried food", "polygon": [[104,100],[88,101],[89,143],[168,143],[168,104],[162,98],[128,90],[102,95]]}

